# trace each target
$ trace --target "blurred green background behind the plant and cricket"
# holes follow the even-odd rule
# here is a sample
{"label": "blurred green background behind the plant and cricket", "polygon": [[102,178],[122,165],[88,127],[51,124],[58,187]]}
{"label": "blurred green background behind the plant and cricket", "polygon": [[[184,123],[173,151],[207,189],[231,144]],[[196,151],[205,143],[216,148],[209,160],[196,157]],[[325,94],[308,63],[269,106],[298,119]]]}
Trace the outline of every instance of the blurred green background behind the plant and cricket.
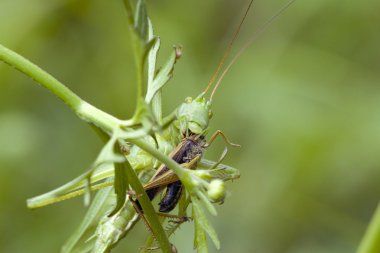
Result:
{"label": "blurred green background behind the plant and cricket", "polygon": [[[235,51],[285,1],[256,1]],[[184,47],[164,109],[197,95],[246,0],[151,0],[161,61]],[[355,252],[380,200],[380,2],[296,1],[244,53],[213,105],[211,130],[242,148],[241,170],[212,218],[220,252]],[[122,1],[0,0],[0,43],[118,117],[134,109],[135,69]],[[88,168],[102,144],[61,101],[0,64],[0,252],[58,252],[82,219],[76,198],[25,200]],[[223,142],[206,156],[217,158]],[[140,224],[115,252],[136,252]],[[192,224],[173,242],[193,252]],[[212,247],[212,252],[216,250]]]}

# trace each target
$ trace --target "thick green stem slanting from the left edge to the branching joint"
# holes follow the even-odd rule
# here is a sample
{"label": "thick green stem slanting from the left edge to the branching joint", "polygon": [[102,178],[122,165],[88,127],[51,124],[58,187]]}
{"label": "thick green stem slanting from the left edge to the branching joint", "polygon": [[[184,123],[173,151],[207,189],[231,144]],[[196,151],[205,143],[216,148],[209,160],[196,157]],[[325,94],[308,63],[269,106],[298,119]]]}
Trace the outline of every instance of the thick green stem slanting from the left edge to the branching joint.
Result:
{"label": "thick green stem slanting from the left edge to the branching joint", "polygon": [[110,133],[120,125],[120,120],[85,102],[49,73],[16,52],[0,44],[0,60],[35,80],[65,102],[83,120]]}

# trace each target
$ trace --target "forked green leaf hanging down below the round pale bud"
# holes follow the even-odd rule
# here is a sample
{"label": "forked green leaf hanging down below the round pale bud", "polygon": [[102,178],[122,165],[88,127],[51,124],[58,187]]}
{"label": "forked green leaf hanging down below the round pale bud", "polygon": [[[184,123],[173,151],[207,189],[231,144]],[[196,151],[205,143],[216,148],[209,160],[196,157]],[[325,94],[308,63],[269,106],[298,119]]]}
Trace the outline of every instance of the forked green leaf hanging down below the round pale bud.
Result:
{"label": "forked green leaf hanging down below the round pale bud", "polygon": [[197,247],[198,252],[207,252],[207,240],[204,236],[205,232],[210,236],[215,247],[219,249],[220,242],[218,239],[218,235],[216,234],[214,228],[208,222],[206,215],[204,214],[203,209],[201,207],[201,203],[199,202],[199,200],[192,198],[192,204],[193,204],[194,222],[196,224],[195,246]]}

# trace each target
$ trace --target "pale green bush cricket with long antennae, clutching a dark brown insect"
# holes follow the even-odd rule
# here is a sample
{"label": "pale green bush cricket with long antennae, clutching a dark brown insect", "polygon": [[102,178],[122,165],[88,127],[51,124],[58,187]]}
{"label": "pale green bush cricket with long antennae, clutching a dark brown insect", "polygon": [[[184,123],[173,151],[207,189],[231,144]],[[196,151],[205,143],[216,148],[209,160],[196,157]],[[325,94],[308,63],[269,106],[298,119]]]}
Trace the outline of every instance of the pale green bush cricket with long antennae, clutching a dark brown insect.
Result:
{"label": "pale green bush cricket with long antennae, clutching a dark brown insect", "polygon": [[[287,5],[280,9],[272,18],[270,18],[259,29],[258,33],[265,30],[268,24],[270,24],[277,16],[279,16],[293,1],[288,2]],[[189,170],[200,168],[199,171],[194,171],[194,175],[200,175],[198,177],[200,187],[204,188],[207,191],[207,197],[212,202],[222,202],[224,199],[223,185],[219,184],[219,188],[222,189],[221,191],[215,192],[211,189],[213,182],[220,182],[220,180],[216,181],[215,179],[220,178],[222,180],[232,180],[239,177],[239,172],[236,169],[221,164],[223,158],[227,153],[227,149],[225,149],[217,162],[210,162],[208,160],[202,159],[204,149],[207,148],[219,135],[223,137],[228,145],[236,146],[236,144],[231,143],[221,131],[217,131],[212,135],[210,141],[206,142],[205,135],[208,129],[209,120],[212,115],[212,99],[225,74],[228,72],[237,58],[243,53],[243,51],[252,44],[253,40],[257,36],[257,33],[255,34],[255,37],[252,37],[248,43],[242,47],[242,49],[230,61],[223,72],[221,72],[215,85],[214,81],[224,66],[224,63],[231,51],[232,45],[236,40],[237,35],[239,34],[241,26],[244,23],[244,20],[252,3],[253,0],[250,1],[244,17],[241,20],[235,34],[233,35],[233,38],[229,43],[222,57],[222,60],[220,61],[218,68],[212,76],[206,89],[195,99],[187,98],[185,102],[176,110],[176,118],[174,121],[171,122],[162,133],[154,133],[155,138],[152,138],[149,135],[144,137],[146,140],[155,144],[160,150],[165,150],[165,152],[169,152],[171,150],[170,157],[178,164],[181,164],[182,167],[185,167]],[[210,97],[206,98],[206,94],[212,87],[213,89],[211,91]],[[141,181],[145,183],[144,189],[151,200],[158,194],[158,192],[166,188],[166,192],[159,204],[159,211],[167,213],[173,210],[179,202],[181,194],[183,193],[183,182],[181,182],[179,177],[165,164],[162,164],[155,171],[155,174],[152,177],[152,168],[156,168],[152,156],[136,146],[132,146],[128,152],[129,155],[126,157],[132,164],[135,171],[140,175]],[[202,173],[205,174],[202,175]],[[218,173],[222,173],[222,176],[219,177]],[[107,180],[105,182],[95,184],[99,182],[99,179],[106,178],[105,175],[108,175],[107,177],[112,178],[112,169],[99,169],[99,171],[96,171],[93,173],[93,175],[91,175],[91,184],[94,185],[92,189],[98,189],[112,185],[112,180]],[[80,180],[78,182],[79,183],[73,188],[73,191],[70,192],[71,195],[67,194],[66,196],[59,198],[57,197],[56,199],[51,200],[49,203],[60,201],[70,196],[75,196],[77,194],[83,193],[83,189],[87,187],[86,183]],[[91,187],[92,185],[90,185],[90,188]],[[92,252],[99,253],[109,252],[111,248],[114,247],[120,241],[120,239],[123,238],[128,233],[128,231],[132,229],[140,216],[144,216],[143,212],[141,212],[142,210],[140,207],[138,207],[139,210],[136,210],[135,205],[132,203],[133,201],[131,201],[131,199],[127,199],[123,207],[121,207],[117,213],[110,216],[110,207],[105,203],[114,202],[115,195],[112,193],[112,191],[109,190],[109,188],[110,187],[104,188],[99,191],[91,207],[89,208],[88,215],[86,215],[84,222],[78,229],[78,232],[74,234],[74,236],[65,245],[63,252],[88,252],[90,250]],[[191,195],[192,193],[190,192],[189,194]],[[195,201],[196,199],[192,200]],[[138,200],[136,203],[138,203]],[[195,203],[193,203],[193,206],[194,204]],[[36,207],[37,206],[38,205],[36,205]],[[194,212],[195,211],[193,211],[193,213]],[[147,223],[147,225],[149,226],[149,223]],[[95,233],[91,236],[91,233],[93,232],[89,231],[94,231],[94,229]]]}

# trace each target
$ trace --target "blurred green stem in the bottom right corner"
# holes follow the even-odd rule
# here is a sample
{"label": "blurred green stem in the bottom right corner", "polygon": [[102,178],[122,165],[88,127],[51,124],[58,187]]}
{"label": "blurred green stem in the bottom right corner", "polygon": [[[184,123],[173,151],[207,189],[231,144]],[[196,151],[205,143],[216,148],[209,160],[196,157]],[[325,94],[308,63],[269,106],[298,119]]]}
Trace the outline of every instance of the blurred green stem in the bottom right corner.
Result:
{"label": "blurred green stem in the bottom right corner", "polygon": [[357,250],[357,253],[378,252],[380,252],[380,203]]}

